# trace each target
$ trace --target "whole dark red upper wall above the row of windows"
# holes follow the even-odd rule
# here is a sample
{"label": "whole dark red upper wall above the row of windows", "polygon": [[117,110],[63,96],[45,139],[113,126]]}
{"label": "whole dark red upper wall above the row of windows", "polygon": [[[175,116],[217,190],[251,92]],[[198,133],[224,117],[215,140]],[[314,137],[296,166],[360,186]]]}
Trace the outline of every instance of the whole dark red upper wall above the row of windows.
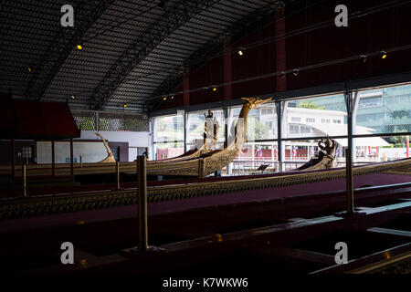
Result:
{"label": "whole dark red upper wall above the row of windows", "polygon": [[[311,1],[307,1],[311,3]],[[285,28],[288,34],[300,28],[330,21],[331,25],[305,32],[298,36],[286,38],[286,68],[301,68],[344,57],[353,57],[369,52],[411,45],[411,4],[399,5],[362,17],[351,18],[348,27],[333,25],[337,14],[336,5],[341,1],[324,1],[321,5],[312,6],[300,13],[287,16]],[[355,1],[346,0],[348,13],[386,4],[386,1]],[[302,7],[301,7],[302,8]],[[231,40],[232,49],[247,47],[248,44],[264,40],[276,35],[276,23],[265,26],[258,31],[239,40]],[[278,47],[278,46],[277,46]],[[276,43],[248,48],[243,56],[237,51],[232,54],[232,80],[253,78],[278,71],[276,64]],[[343,64],[300,71],[296,77],[288,74],[286,90],[304,89],[323,84],[342,82],[359,78],[369,78],[390,73],[411,71],[411,49],[389,53],[386,59],[368,57],[362,60]],[[278,64],[279,65],[279,64]],[[224,58],[215,57],[205,66],[198,68],[189,75],[190,89],[203,88],[224,80]],[[233,99],[274,93],[279,90],[276,77],[263,78],[235,84],[232,88]],[[182,90],[180,86],[174,91]],[[282,90],[282,89],[281,89]],[[213,92],[211,89],[190,93],[189,104],[208,103],[224,99],[223,88]],[[181,107],[184,105],[183,95],[165,102],[163,109]]]}

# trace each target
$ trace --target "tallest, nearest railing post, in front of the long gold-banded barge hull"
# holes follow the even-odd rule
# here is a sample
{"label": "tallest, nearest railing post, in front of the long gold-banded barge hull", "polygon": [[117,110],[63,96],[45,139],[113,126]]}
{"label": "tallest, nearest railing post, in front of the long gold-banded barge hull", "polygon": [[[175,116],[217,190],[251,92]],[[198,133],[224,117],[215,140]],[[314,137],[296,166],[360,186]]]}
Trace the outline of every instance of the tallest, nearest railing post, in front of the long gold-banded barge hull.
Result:
{"label": "tallest, nearest railing post, in front of the long gold-banded barge hull", "polygon": [[139,156],[137,159],[138,177],[138,208],[139,208],[139,250],[148,250],[148,224],[147,224],[147,172],[146,158]]}

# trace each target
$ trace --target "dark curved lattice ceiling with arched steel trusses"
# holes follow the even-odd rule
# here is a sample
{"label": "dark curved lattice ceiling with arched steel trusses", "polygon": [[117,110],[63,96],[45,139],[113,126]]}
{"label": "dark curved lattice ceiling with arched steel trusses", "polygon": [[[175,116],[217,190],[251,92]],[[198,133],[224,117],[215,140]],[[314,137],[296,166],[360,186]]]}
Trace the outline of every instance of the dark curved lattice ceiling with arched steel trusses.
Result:
{"label": "dark curved lattice ceiling with arched steel trusses", "polygon": [[[74,27],[60,25],[62,5]],[[184,72],[268,22],[276,0],[3,0],[0,91],[72,109],[147,112]],[[80,45],[82,49],[78,49]],[[74,97],[74,98],[72,98]]]}

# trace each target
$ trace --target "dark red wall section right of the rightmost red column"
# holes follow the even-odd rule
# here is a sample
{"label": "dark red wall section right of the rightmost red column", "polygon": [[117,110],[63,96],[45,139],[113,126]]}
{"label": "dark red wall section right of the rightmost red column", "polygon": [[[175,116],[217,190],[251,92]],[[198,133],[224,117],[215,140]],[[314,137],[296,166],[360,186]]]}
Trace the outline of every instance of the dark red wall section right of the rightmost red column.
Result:
{"label": "dark red wall section right of the rightmost red column", "polygon": [[[373,2],[373,5],[371,3]],[[349,14],[384,1],[345,1]],[[316,6],[314,11],[291,16],[287,21],[288,31],[311,26],[332,19],[333,7],[340,1]],[[287,66],[299,68],[344,57],[358,56],[389,47],[411,44],[406,27],[411,26],[411,5],[401,5],[368,16],[349,20],[348,27],[327,26],[309,33],[287,38]],[[301,71],[298,77],[288,78],[288,89],[303,89],[321,84],[341,82],[358,78],[385,75],[411,69],[411,50],[368,57],[364,63],[355,60],[338,65]]]}

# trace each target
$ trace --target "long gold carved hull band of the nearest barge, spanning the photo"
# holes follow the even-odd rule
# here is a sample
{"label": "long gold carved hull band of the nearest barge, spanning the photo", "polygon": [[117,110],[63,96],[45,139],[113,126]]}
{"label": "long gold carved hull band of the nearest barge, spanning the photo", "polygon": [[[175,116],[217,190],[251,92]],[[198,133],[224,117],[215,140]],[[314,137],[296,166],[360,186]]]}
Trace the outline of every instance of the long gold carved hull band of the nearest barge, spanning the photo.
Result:
{"label": "long gold carved hull band of the nearest barge, spanning the photo", "polygon": [[[195,160],[197,162],[197,160]],[[383,162],[353,168],[353,175],[360,176],[378,172],[399,172],[411,167],[411,159]],[[195,166],[198,169],[198,165]],[[345,177],[345,168],[327,172],[295,172],[258,178],[241,178],[226,182],[204,182],[166,185],[148,188],[149,203],[177,200],[190,197],[216,195],[276,188],[304,183],[320,183]],[[134,190],[120,190],[84,194],[68,194],[52,197],[32,197],[7,200],[0,203],[0,219],[18,218],[41,214],[58,214],[88,209],[136,203]]]}

